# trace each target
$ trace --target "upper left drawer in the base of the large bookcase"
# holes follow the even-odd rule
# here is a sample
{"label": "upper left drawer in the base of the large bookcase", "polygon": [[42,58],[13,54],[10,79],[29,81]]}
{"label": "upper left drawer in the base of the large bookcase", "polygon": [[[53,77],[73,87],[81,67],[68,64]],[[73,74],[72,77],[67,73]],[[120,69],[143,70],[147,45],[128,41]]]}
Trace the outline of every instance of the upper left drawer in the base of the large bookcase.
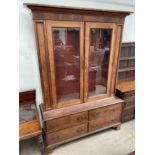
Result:
{"label": "upper left drawer in the base of the large bookcase", "polygon": [[54,120],[49,120],[46,122],[46,128],[47,132],[54,132],[78,124],[86,123],[87,121],[88,121],[88,112],[82,112]]}

